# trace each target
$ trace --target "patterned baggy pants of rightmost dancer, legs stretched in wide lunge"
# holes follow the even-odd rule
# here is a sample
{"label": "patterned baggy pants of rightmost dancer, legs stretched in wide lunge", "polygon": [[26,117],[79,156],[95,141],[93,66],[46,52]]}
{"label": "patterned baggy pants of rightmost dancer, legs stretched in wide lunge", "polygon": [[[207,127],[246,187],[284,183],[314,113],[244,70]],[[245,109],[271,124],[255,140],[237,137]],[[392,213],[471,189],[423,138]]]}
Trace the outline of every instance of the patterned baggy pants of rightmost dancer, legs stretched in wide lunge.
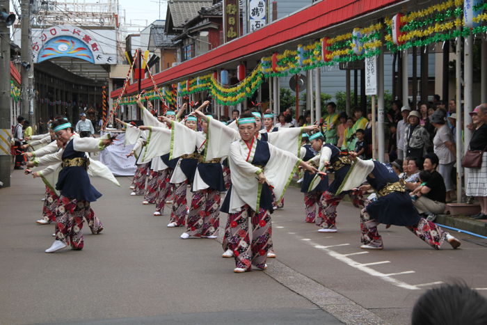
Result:
{"label": "patterned baggy pants of rightmost dancer, legs stretched in wide lunge", "polygon": [[[362,244],[367,245],[371,241],[374,241],[376,244],[382,244],[382,237],[377,231],[378,224],[377,221],[371,219],[367,213],[367,209],[364,207],[360,212],[360,232],[362,232],[360,241],[362,241]],[[415,225],[408,225],[406,228],[435,249],[440,249],[440,246],[443,241],[445,241],[447,235],[447,232],[444,232],[439,228],[436,223],[427,221],[424,218],[421,218]]]}

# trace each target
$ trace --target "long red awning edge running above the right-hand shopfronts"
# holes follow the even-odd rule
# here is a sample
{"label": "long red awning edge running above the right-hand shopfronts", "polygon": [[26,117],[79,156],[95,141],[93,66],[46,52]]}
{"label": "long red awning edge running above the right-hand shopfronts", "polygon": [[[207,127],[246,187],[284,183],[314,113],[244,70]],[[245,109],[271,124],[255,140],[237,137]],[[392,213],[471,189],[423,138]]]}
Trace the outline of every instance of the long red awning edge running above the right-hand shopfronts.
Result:
{"label": "long red awning edge running above the right-hand shopfronts", "polygon": [[[154,75],[157,84],[195,74],[221,63],[262,51],[266,48],[292,41],[296,38],[346,22],[349,19],[378,10],[399,0],[323,0],[304,10],[265,26],[259,31],[238,38],[206,54],[192,58],[173,68]],[[152,81],[142,81],[142,88],[151,88]],[[135,93],[137,84],[127,86],[126,93]],[[113,90],[111,97],[120,95],[121,88]]]}

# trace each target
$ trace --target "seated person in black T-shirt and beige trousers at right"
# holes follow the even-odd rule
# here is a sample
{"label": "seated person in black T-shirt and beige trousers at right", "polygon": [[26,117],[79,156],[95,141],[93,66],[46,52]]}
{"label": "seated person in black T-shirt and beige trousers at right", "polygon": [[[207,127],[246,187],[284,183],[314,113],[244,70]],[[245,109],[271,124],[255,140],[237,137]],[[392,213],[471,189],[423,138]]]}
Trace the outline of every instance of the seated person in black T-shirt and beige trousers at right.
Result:
{"label": "seated person in black T-shirt and beige trousers at right", "polygon": [[445,212],[445,201],[447,189],[443,177],[436,171],[439,159],[434,153],[426,154],[424,157],[424,171],[431,174],[431,178],[424,184],[420,184],[411,194],[417,196],[413,202],[420,214],[426,214],[429,221],[436,218],[436,214]]}

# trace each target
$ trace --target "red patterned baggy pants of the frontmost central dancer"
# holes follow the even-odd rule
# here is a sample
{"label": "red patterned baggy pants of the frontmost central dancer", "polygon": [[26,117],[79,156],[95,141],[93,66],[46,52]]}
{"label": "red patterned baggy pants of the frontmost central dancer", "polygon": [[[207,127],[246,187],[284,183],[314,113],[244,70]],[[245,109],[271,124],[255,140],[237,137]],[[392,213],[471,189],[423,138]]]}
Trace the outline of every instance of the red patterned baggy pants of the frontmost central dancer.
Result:
{"label": "red patterned baggy pants of the frontmost central dancer", "polygon": [[[248,233],[248,219],[252,224],[252,241]],[[248,205],[241,211],[228,214],[230,224],[227,246],[234,253],[235,265],[250,271],[251,265],[264,268],[272,236],[271,214],[266,209],[255,212]]]}

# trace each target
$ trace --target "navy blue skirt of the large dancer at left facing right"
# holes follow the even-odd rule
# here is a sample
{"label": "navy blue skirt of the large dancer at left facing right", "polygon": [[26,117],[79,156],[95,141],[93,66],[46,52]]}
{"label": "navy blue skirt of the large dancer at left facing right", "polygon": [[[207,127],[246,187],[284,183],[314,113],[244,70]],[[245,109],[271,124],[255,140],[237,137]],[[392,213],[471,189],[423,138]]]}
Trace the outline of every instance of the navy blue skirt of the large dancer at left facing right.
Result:
{"label": "navy blue skirt of the large dancer at left facing right", "polygon": [[62,196],[70,199],[95,202],[102,193],[91,185],[90,177],[84,167],[71,166],[61,169],[56,183],[56,189]]}

